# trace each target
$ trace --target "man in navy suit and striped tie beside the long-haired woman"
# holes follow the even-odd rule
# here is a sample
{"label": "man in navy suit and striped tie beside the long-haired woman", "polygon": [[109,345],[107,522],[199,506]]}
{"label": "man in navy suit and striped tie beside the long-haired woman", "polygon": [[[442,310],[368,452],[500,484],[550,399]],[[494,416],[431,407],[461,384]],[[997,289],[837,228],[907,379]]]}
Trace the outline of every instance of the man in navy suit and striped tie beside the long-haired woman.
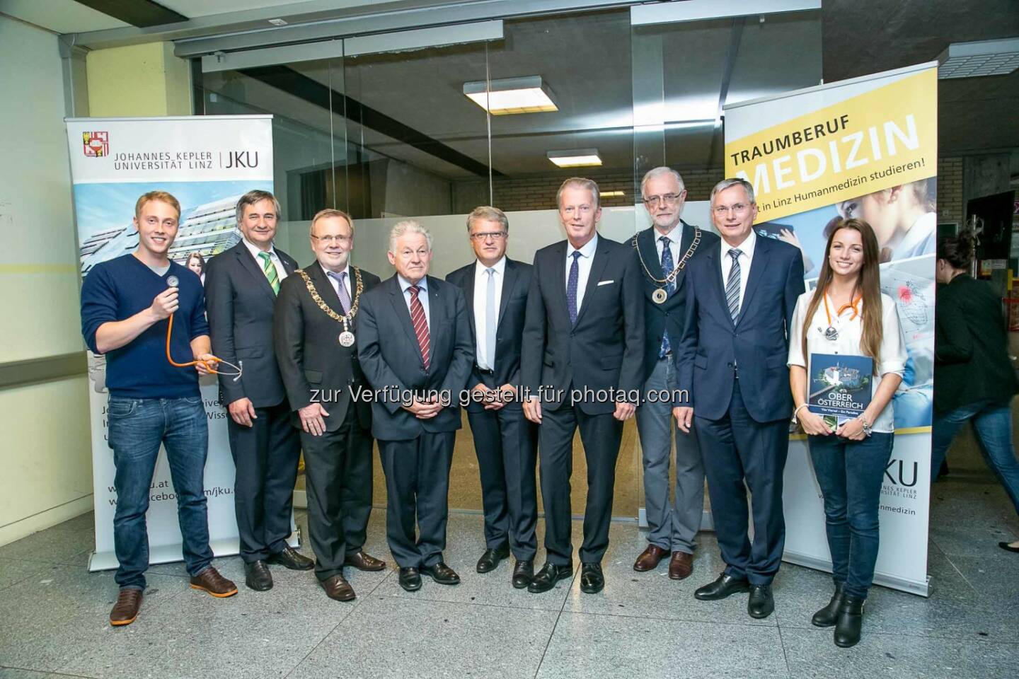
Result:
{"label": "man in navy suit and striped tie beside the long-haired woman", "polygon": [[[771,580],[786,537],[782,482],[793,414],[786,360],[803,258],[799,248],[754,233],[754,189],[743,179],[715,185],[711,215],[721,242],[687,271],[677,357],[687,393],[674,414],[682,431],[697,431],[726,570],[694,596],[710,601],[749,590],[747,612],[766,618],[774,610]],[[744,483],[753,503],[753,545]]]}

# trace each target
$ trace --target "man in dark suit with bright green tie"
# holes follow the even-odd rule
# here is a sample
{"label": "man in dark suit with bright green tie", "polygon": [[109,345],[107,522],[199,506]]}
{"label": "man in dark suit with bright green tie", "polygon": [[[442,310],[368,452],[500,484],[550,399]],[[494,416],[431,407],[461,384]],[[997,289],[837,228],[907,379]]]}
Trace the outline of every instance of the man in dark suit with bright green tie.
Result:
{"label": "man in dark suit with bright green tie", "polygon": [[267,563],[308,570],[313,562],[286,544],[293,510],[301,442],[272,350],[272,314],[280,284],[298,263],[272,244],[279,204],[262,190],[237,202],[243,238],[213,258],[205,278],[206,307],[217,356],[242,366],[239,380],[220,375],[230,453],[236,473],[233,503],[245,582],[272,587]]}

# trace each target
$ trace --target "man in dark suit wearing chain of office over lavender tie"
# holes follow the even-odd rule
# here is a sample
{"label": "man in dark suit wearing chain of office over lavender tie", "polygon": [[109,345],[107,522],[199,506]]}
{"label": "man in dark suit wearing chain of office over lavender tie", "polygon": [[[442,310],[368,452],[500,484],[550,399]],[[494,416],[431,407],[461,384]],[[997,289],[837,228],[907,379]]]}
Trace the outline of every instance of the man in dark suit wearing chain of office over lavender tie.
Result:
{"label": "man in dark suit wearing chain of office over lavender tie", "polygon": [[355,397],[368,388],[358,364],[358,309],[379,279],[350,264],[346,213],[315,215],[311,246],[316,262],[283,282],[273,337],[305,451],[315,574],[330,599],[347,602],[355,592],[343,566],[385,568],[362,549],[372,510],[371,409]]}

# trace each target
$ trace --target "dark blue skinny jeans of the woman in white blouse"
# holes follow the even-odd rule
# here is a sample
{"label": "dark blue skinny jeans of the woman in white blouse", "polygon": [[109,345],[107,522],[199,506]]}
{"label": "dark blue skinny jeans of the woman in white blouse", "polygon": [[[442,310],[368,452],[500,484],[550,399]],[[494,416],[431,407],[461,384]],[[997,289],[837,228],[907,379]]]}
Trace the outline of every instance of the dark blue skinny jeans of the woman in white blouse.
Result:
{"label": "dark blue skinny jeans of the woman in white blouse", "polygon": [[814,473],[824,495],[824,527],[832,575],[846,593],[865,599],[877,562],[878,507],[893,434],[849,441],[834,434],[808,437]]}

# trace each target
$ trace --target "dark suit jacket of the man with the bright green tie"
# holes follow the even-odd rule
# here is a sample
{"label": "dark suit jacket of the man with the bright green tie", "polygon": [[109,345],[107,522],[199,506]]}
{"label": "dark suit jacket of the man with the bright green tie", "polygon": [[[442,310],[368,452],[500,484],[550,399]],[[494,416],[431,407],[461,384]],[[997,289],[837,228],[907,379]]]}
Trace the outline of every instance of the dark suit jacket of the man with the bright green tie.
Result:
{"label": "dark suit jacket of the man with the bright green tie", "polygon": [[[276,254],[292,274],[298,263],[279,248]],[[272,348],[276,294],[244,241],[209,261],[205,298],[212,352],[234,365],[244,362],[236,382],[219,376],[220,401],[225,406],[247,397],[256,408],[282,403],[286,391]]]}

